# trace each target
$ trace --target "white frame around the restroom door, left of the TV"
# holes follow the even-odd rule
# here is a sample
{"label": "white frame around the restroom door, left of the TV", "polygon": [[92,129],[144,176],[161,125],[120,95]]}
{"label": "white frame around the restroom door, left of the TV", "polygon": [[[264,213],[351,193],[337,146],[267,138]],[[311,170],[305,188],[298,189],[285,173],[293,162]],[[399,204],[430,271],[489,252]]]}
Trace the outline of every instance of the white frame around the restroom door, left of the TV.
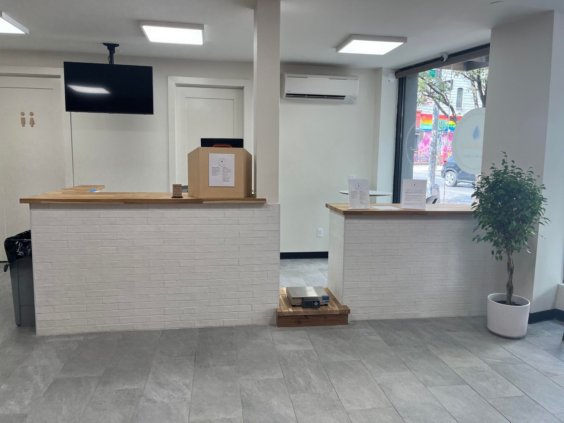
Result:
{"label": "white frame around the restroom door, left of the TV", "polygon": [[25,78],[53,78],[60,80],[61,89],[61,129],[63,132],[63,161],[65,169],[65,185],[74,186],[72,133],[70,131],[70,112],[65,111],[65,89],[63,85],[63,68],[40,68],[33,66],[0,66],[0,76]]}

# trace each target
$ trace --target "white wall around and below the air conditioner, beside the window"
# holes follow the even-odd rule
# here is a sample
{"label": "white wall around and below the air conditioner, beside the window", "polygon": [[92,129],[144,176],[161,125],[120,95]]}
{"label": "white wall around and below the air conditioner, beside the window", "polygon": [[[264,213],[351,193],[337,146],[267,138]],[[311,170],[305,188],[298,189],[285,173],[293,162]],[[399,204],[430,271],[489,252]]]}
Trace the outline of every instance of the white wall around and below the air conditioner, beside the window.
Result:
{"label": "white wall around and below the air conditioner, beside the window", "polygon": [[[371,179],[373,189],[391,191],[396,84],[387,82],[386,73],[387,86],[382,88],[381,69],[283,65],[281,70],[359,77],[355,102],[280,100],[281,252],[328,251],[325,204],[349,201],[338,192],[347,189],[348,175]],[[382,102],[390,113],[380,120]],[[386,129],[380,129],[381,121]],[[381,164],[382,185],[374,180],[380,177],[380,148],[389,156]],[[323,237],[317,236],[318,228],[323,228]]]}

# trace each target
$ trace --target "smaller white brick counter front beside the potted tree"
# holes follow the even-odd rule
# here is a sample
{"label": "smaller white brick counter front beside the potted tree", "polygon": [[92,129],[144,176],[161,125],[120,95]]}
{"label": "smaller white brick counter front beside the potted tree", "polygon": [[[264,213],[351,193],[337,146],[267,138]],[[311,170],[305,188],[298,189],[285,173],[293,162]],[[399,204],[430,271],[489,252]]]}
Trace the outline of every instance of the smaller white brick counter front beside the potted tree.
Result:
{"label": "smaller white brick counter front beside the potted tree", "polygon": [[351,320],[485,315],[488,294],[505,292],[469,216],[329,213],[328,287]]}

